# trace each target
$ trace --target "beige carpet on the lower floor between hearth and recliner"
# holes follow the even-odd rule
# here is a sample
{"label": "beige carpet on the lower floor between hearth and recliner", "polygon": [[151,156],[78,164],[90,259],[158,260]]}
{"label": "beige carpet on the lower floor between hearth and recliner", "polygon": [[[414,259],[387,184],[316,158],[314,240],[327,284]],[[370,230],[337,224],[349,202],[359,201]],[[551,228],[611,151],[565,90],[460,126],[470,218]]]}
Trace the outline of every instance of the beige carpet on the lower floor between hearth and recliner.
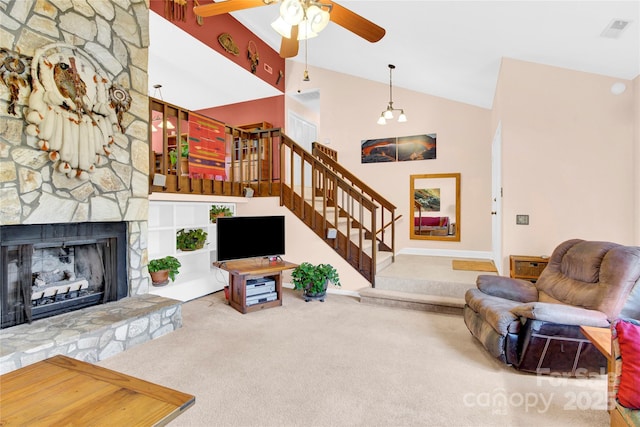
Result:
{"label": "beige carpet on the lower floor between hearth and recliner", "polygon": [[196,396],[171,426],[606,426],[606,377],[521,374],[460,316],[329,295],[242,315],[222,293],[184,327],[99,363]]}

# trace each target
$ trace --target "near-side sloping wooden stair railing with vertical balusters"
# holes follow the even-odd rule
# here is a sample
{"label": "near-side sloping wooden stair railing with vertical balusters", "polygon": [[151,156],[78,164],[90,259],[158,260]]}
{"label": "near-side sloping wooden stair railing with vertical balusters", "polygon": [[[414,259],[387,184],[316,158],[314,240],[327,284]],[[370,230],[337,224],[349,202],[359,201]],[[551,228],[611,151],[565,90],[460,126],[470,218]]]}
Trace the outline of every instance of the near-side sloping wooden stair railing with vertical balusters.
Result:
{"label": "near-side sloping wooden stair railing with vertical balusters", "polygon": [[[352,174],[344,173],[344,168],[337,163],[333,167],[327,166],[325,162],[331,154],[320,155],[315,151],[315,155],[311,154],[286,135],[281,135],[280,163],[287,165],[288,173],[282,176],[280,204],[288,207],[375,287],[379,249],[391,249],[392,258],[395,249],[394,224],[384,226],[380,222],[384,216],[379,211],[387,210],[393,218],[395,206]],[[341,175],[351,179],[346,180]],[[380,229],[379,223],[383,224]],[[391,232],[385,244],[384,229],[388,226]],[[331,233],[335,233],[335,237]],[[382,237],[372,238],[378,234]],[[367,243],[370,243],[369,248]]]}

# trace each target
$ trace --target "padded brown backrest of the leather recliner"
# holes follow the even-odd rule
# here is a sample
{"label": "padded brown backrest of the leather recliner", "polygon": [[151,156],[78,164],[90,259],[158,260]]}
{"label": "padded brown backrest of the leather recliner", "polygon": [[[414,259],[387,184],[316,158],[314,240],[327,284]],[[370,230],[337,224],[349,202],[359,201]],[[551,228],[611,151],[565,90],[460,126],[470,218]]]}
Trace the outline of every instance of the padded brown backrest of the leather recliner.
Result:
{"label": "padded brown backrest of the leather recliner", "polygon": [[[540,301],[602,311],[611,320],[620,315],[639,281],[640,247],[572,239],[553,251],[536,287]],[[633,304],[640,303],[636,299]]]}

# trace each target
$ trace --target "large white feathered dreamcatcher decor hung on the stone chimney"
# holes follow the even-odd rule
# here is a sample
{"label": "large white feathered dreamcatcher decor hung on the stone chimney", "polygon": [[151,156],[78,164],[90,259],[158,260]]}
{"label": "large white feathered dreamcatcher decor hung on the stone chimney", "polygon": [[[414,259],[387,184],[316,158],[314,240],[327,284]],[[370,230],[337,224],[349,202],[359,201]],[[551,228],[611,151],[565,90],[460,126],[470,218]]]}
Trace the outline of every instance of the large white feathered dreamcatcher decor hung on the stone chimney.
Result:
{"label": "large white feathered dreamcatcher decor hung on the stone chimney", "polygon": [[126,138],[121,120],[131,106],[129,93],[109,82],[86,52],[65,43],[36,50],[31,80],[26,133],[57,162],[55,170],[89,179],[107,162],[115,139]]}

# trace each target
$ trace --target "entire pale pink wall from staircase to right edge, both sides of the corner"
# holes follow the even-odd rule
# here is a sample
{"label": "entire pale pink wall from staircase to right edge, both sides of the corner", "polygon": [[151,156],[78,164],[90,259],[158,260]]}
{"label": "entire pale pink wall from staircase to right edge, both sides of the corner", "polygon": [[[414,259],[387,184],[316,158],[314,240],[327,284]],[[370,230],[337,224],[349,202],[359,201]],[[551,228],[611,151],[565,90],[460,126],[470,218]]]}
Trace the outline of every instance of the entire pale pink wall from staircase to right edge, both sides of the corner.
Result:
{"label": "entire pale pink wall from staircase to right edge, both sides of the corner", "polygon": [[[289,76],[303,66],[288,62]],[[340,161],[382,195],[405,219],[398,224],[398,248],[491,251],[491,142],[502,123],[502,248],[509,254],[549,254],[569,238],[638,244],[640,222],[640,135],[638,78],[613,96],[618,81],[600,75],[504,59],[493,110],[394,88],[394,105],[409,121],[379,126],[388,87],[311,69],[308,90],[320,89],[318,140],[338,150]],[[294,79],[287,92],[300,89]],[[303,91],[305,87],[301,88]],[[287,108],[299,105],[287,98]],[[635,112],[635,115],[634,115]],[[436,160],[360,163],[362,139],[437,133]],[[419,241],[408,237],[409,176],[462,174],[462,239]],[[516,214],[530,225],[515,224]]]}

